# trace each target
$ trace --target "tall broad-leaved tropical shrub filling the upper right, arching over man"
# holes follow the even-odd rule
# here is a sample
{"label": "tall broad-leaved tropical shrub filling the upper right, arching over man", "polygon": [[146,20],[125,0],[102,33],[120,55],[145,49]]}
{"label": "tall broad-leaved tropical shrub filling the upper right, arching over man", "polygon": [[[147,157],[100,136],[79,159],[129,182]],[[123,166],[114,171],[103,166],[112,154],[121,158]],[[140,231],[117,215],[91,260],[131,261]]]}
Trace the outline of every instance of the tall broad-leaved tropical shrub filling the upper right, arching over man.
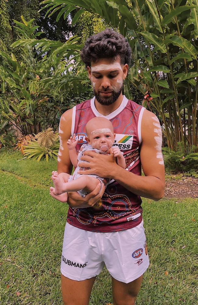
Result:
{"label": "tall broad-leaved tropical shrub filling the upper right, arching over man", "polygon": [[59,10],[57,20],[77,8],[75,21],[88,11],[123,34],[132,48],[133,66],[124,88],[129,98],[130,83],[142,96],[151,95],[150,106],[161,120],[169,148],[175,149],[179,141],[197,147],[197,0],[44,0],[41,3],[42,9],[48,8],[46,15]]}

